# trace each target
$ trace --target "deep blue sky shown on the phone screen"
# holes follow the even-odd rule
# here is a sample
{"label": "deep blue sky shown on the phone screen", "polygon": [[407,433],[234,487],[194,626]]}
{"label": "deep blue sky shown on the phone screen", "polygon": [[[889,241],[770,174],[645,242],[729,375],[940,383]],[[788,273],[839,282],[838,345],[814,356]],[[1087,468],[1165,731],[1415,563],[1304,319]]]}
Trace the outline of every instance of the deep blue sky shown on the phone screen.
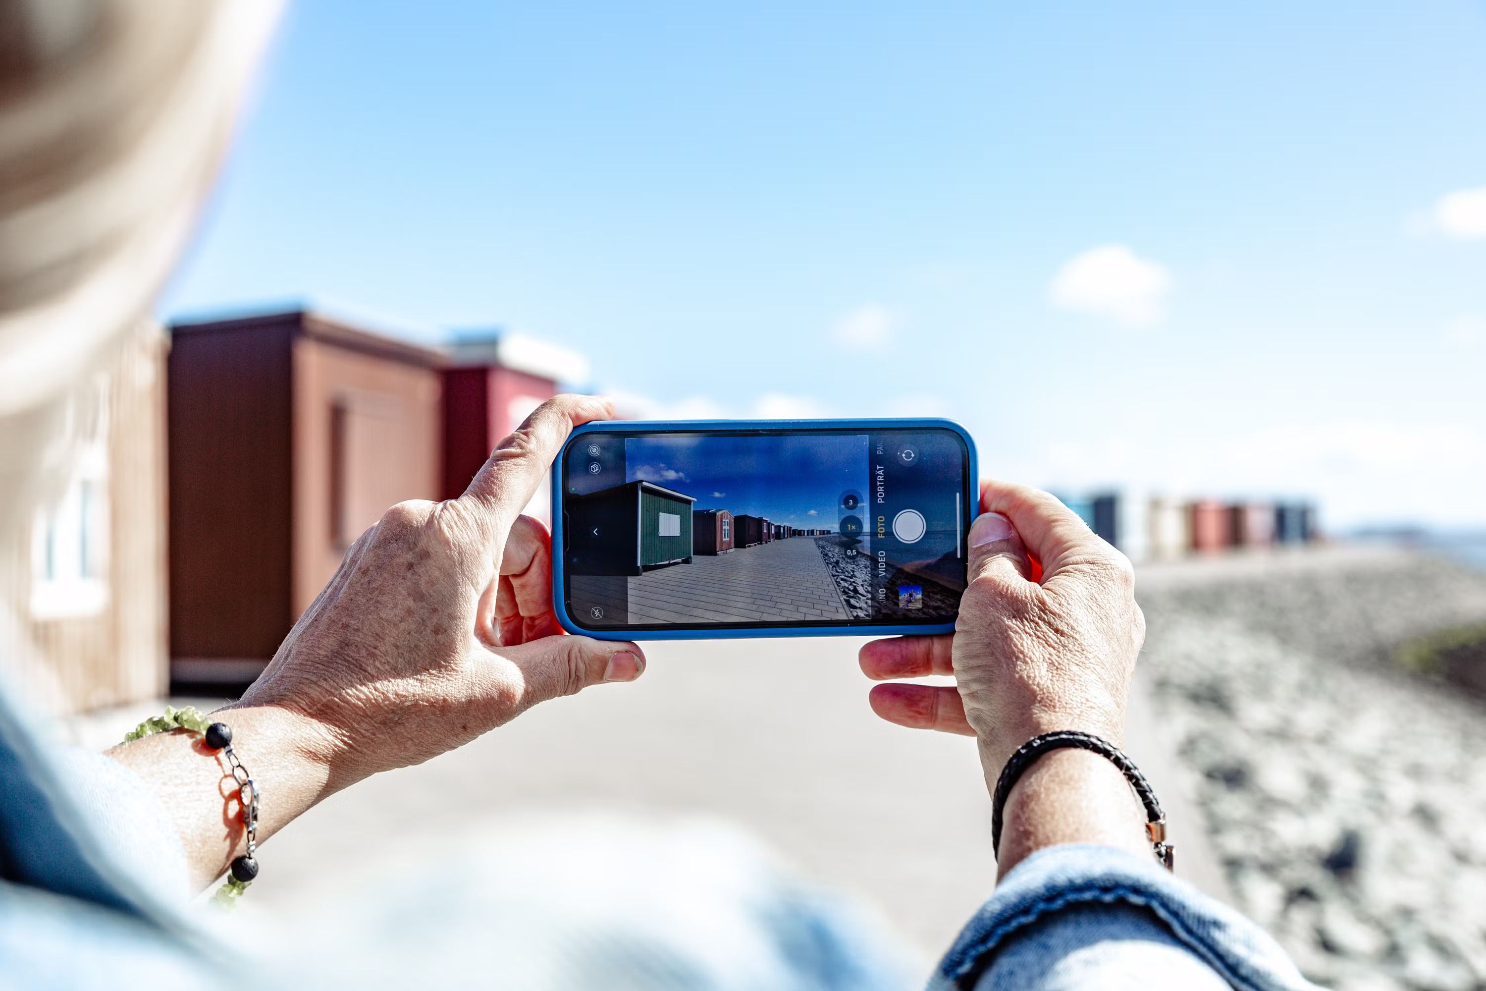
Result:
{"label": "deep blue sky shown on the phone screen", "polygon": [[762,516],[801,529],[837,529],[843,492],[868,492],[866,435],[635,437],[624,443],[629,480],[697,499],[697,510]]}

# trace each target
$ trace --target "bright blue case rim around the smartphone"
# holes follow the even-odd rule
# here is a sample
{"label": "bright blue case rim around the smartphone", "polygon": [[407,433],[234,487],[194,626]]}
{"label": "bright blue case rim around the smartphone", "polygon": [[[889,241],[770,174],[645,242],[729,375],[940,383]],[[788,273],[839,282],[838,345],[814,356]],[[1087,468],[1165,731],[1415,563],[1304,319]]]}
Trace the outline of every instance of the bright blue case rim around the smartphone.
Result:
{"label": "bright blue case rim around the smartphone", "polygon": [[[553,609],[557,614],[557,621],[562,624],[568,633],[577,633],[580,636],[594,637],[597,640],[722,640],[722,639],[737,639],[737,637],[774,637],[774,636],[893,636],[893,634],[915,634],[915,636],[930,636],[935,633],[954,633],[954,623],[936,623],[936,624],[912,624],[912,626],[878,626],[872,623],[862,623],[860,626],[841,626],[841,627],[768,627],[768,628],[730,628],[721,626],[701,626],[701,627],[684,627],[666,630],[590,630],[580,627],[568,615],[568,602],[563,594],[566,581],[563,578],[563,571],[566,565],[566,556],[562,553],[563,544],[563,519],[562,519],[562,501],[563,501],[563,484],[562,484],[562,467],[563,461],[568,458],[568,449],[575,443],[577,438],[593,431],[624,431],[630,434],[637,432],[704,432],[704,431],[740,431],[740,429],[774,429],[774,431],[810,431],[810,429],[924,429],[924,428],[944,428],[951,429],[964,440],[964,447],[970,456],[970,480],[972,493],[975,493],[975,483],[979,478],[976,458],[975,458],[975,441],[970,434],[955,423],[947,419],[840,419],[840,420],[597,420],[593,423],[584,423],[577,428],[568,441],[563,444],[562,452],[553,462],[551,474],[551,490],[553,490]],[[979,496],[975,495],[972,499],[973,505],[967,507],[964,514],[964,527],[969,530],[970,520],[976,517],[981,511]]]}

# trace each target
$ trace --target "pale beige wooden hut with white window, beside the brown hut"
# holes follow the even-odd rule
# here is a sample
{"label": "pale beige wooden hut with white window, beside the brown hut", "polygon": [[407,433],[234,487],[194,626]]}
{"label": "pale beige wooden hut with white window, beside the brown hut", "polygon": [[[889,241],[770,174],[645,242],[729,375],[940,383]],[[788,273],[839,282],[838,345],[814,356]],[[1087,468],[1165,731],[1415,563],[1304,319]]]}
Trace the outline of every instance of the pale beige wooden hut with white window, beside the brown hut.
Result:
{"label": "pale beige wooden hut with white window, beside the brown hut", "polygon": [[[0,652],[0,678],[31,689],[40,713],[144,703],[169,686],[169,337],[141,321],[119,343],[91,379],[98,406],[73,423],[70,471],[34,517],[9,517],[6,536],[30,553],[0,566],[15,569],[0,612],[34,649]],[[218,456],[232,453],[223,441]],[[214,495],[233,505],[232,492]]]}

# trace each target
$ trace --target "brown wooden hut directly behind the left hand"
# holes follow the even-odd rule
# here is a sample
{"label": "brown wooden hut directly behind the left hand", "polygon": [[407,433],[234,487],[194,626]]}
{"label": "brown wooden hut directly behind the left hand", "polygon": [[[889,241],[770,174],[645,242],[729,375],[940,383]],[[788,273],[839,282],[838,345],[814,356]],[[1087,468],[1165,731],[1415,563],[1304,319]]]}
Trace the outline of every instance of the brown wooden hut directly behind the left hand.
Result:
{"label": "brown wooden hut directly behind the left hand", "polygon": [[251,682],[357,536],[403,499],[443,495],[444,361],[314,309],[171,328],[177,682]]}

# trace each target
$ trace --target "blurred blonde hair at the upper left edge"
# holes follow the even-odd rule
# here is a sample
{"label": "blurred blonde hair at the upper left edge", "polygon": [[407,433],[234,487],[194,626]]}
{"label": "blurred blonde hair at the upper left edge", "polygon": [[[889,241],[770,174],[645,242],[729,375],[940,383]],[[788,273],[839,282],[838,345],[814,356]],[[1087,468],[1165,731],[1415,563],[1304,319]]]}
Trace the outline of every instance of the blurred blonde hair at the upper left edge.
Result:
{"label": "blurred blonde hair at the upper left edge", "polygon": [[101,373],[190,235],[278,9],[0,0],[0,669],[30,667],[34,508],[100,429]]}

